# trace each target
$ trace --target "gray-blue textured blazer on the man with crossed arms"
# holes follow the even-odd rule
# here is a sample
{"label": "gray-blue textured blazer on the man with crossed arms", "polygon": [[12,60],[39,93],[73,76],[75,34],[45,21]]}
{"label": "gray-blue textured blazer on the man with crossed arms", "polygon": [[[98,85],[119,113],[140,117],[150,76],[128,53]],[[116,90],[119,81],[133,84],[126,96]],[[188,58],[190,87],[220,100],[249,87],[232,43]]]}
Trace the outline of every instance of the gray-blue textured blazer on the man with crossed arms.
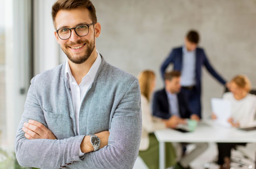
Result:
{"label": "gray-blue textured blazer on the man with crossed arms", "polygon": [[[64,73],[65,63],[31,80],[15,138],[19,164],[37,168],[133,168],[141,139],[138,79],[102,57],[81,104],[81,135],[77,135],[70,87]],[[22,126],[29,119],[41,122],[57,140],[26,139]],[[110,132],[108,146],[79,158],[84,136],[105,130]]]}

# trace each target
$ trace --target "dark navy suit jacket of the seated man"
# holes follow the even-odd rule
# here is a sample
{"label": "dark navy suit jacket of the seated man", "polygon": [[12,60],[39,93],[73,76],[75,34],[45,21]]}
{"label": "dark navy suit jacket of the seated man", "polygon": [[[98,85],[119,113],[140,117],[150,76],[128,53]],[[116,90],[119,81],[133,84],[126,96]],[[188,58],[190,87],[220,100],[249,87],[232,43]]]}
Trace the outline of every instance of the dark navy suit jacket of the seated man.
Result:
{"label": "dark navy suit jacket of the seated man", "polygon": [[[184,100],[183,94],[178,93],[177,97],[180,117],[190,118],[191,111],[189,110],[188,104]],[[170,107],[165,89],[155,92],[153,96],[153,115],[163,119],[168,119],[171,117],[169,114],[169,109]]]}

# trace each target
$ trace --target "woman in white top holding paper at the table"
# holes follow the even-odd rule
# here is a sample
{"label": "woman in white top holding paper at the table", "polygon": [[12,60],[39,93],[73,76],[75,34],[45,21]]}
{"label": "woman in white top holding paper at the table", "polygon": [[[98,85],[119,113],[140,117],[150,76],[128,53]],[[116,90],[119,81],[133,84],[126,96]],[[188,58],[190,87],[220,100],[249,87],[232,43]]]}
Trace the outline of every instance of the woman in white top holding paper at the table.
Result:
{"label": "woman in white top holding paper at the table", "polygon": [[[228,122],[233,127],[246,127],[255,123],[256,96],[250,94],[251,82],[245,75],[235,76],[229,83],[229,90],[223,94],[223,99],[231,102],[231,117]],[[213,119],[216,116],[213,114]],[[218,143],[219,160],[221,169],[230,168],[231,149],[236,145],[245,145],[246,143]]]}

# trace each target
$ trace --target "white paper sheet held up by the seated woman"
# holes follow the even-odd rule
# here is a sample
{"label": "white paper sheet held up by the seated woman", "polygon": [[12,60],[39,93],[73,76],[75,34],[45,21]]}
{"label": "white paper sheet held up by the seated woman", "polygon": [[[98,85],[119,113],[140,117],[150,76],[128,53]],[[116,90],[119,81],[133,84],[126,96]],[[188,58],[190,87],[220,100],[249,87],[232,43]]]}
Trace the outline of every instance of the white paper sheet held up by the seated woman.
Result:
{"label": "white paper sheet held up by the seated woman", "polygon": [[222,98],[212,98],[212,112],[216,115],[215,122],[225,127],[231,127],[228,119],[231,117],[231,103],[229,100]]}

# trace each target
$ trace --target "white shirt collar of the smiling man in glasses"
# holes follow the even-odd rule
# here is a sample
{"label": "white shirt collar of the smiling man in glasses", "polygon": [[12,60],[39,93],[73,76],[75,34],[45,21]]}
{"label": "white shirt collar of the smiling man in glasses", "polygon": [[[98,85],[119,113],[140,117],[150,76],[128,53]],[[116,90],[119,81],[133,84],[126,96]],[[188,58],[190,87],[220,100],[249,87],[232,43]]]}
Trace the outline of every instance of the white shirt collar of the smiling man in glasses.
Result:
{"label": "white shirt collar of the smiling man in glasses", "polygon": [[[94,80],[94,78],[96,76],[96,73],[97,73],[97,71],[99,69],[99,66],[101,65],[101,61],[102,61],[101,55],[99,54],[98,50],[96,50],[96,52],[97,52],[97,58],[94,61],[94,63],[92,64],[89,72],[87,73],[87,75],[89,75],[92,80]],[[84,80],[84,78],[87,75],[85,75],[82,80]],[[68,58],[66,60],[66,65],[65,65],[65,76],[66,76],[67,79],[69,77],[70,81],[71,81],[71,77],[73,77],[72,73],[71,73],[71,70],[70,70],[70,66],[68,64]]]}

